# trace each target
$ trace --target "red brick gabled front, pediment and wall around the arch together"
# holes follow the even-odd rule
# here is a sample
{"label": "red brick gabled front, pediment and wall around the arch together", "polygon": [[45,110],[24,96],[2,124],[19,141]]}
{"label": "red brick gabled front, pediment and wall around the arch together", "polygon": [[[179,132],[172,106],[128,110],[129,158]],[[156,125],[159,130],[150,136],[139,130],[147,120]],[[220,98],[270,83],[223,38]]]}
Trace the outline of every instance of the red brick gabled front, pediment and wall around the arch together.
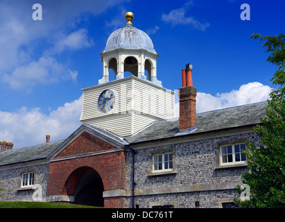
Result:
{"label": "red brick gabled front, pediment and wall around the arch together", "polygon": [[[84,132],[53,160],[114,148],[116,147]],[[104,191],[126,188],[126,154],[124,151],[116,151],[50,162],[48,196],[73,196],[80,176],[91,168],[101,177]],[[125,207],[125,205],[125,198],[104,200],[104,207]]]}

